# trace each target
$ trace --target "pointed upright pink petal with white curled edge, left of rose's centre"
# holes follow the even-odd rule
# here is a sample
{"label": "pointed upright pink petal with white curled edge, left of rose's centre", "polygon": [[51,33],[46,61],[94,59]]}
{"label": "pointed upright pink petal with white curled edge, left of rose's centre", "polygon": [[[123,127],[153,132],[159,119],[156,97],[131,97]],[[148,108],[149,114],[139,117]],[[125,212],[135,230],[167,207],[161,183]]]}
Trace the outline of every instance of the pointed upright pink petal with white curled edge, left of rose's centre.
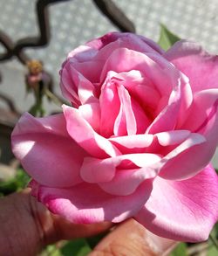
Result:
{"label": "pointed upright pink petal with white curled edge, left of rose's centre", "polygon": [[79,114],[78,109],[64,105],[63,111],[67,132],[90,156],[105,158],[120,154],[111,142],[92,129],[91,125]]}

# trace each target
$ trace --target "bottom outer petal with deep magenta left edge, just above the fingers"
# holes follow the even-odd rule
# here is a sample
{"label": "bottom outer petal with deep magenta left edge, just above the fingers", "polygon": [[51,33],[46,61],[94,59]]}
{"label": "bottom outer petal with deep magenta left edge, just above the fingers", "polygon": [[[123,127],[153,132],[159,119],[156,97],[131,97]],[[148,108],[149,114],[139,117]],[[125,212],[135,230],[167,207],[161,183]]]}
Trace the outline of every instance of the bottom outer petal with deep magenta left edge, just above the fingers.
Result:
{"label": "bottom outer petal with deep magenta left edge, just above the fingers", "polygon": [[152,182],[147,180],[132,195],[126,197],[109,195],[92,183],[80,183],[69,189],[44,186],[37,188],[35,184],[33,190],[37,199],[51,212],[73,223],[121,222],[133,217],[146,203],[152,190]]}

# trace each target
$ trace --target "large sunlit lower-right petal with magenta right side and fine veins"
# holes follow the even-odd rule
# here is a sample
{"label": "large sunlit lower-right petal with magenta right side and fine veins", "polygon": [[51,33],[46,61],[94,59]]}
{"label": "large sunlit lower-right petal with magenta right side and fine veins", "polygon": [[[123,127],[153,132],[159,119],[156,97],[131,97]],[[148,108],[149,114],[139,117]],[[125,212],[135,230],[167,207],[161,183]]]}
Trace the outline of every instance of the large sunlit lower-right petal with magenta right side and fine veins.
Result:
{"label": "large sunlit lower-right petal with magenta right side and fine veins", "polygon": [[151,197],[135,219],[149,231],[188,242],[208,239],[218,220],[218,178],[208,166],[181,182],[155,178]]}

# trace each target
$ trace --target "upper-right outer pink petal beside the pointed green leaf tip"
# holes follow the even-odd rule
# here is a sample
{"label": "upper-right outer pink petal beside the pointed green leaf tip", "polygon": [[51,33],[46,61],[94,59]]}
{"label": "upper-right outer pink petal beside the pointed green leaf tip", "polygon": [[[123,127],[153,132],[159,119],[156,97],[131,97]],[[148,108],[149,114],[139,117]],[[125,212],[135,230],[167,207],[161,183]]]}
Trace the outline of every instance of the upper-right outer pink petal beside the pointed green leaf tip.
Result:
{"label": "upper-right outer pink petal beside the pointed green leaf tip", "polygon": [[218,58],[204,52],[200,45],[181,40],[163,56],[187,75],[193,92],[217,88]]}

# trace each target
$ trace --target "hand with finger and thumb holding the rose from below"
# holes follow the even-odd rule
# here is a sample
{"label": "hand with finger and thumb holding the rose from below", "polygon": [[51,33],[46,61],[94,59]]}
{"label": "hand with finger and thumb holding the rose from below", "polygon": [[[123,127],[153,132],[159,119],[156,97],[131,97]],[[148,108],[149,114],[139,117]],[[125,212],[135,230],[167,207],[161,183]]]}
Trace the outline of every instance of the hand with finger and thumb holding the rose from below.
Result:
{"label": "hand with finger and thumb holding the rose from below", "polygon": [[[84,238],[111,232],[94,248],[90,256],[167,255],[175,242],[167,239],[151,243],[149,232],[132,218],[113,226],[105,222],[75,225],[51,214],[31,197],[30,189],[0,199],[0,255],[37,255],[44,246],[60,239]],[[162,243],[164,240],[164,243]],[[167,243],[166,243],[167,241]]]}

